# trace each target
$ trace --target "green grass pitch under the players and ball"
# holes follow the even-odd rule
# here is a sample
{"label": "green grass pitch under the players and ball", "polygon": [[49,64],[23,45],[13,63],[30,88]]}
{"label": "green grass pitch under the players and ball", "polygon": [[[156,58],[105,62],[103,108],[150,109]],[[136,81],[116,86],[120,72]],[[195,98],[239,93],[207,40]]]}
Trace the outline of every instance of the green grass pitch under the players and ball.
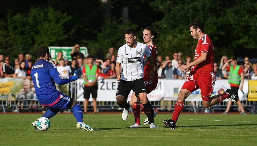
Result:
{"label": "green grass pitch under the players and ball", "polygon": [[[157,129],[130,129],[120,114],[84,114],[94,131],[76,127],[73,114],[57,114],[48,131],[35,131],[31,123],[42,114],[0,114],[0,145],[257,145],[257,115],[184,114],[175,130],[164,127],[171,114],[158,114]],[[141,114],[141,123],[146,118]]]}

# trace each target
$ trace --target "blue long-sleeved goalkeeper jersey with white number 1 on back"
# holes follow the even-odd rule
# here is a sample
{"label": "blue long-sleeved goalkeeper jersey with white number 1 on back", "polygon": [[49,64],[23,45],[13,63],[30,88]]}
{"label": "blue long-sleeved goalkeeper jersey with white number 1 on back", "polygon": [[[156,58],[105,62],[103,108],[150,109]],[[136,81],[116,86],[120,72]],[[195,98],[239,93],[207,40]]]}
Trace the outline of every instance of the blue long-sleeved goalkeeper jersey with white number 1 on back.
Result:
{"label": "blue long-sleeved goalkeeper jersey with white number 1 on back", "polygon": [[62,77],[52,61],[39,59],[32,67],[30,76],[35,84],[36,97],[42,105],[53,105],[59,100],[60,92],[57,84],[67,84],[75,81],[76,77]]}

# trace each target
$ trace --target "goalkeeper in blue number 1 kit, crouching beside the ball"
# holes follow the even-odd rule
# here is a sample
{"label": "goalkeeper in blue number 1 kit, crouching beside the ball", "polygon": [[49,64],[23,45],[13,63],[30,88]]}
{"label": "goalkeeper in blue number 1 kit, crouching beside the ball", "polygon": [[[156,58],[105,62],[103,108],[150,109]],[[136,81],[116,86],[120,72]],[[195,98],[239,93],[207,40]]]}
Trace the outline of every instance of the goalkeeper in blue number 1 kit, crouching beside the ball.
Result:
{"label": "goalkeeper in blue number 1 kit, crouching beside the ball", "polygon": [[[77,128],[93,131],[89,125],[83,122],[83,112],[79,103],[68,95],[59,92],[55,87],[55,82],[62,85],[79,79],[83,74],[81,68],[75,70],[73,76],[63,77],[58,73],[55,64],[48,61],[49,53],[48,47],[37,49],[38,60],[30,73],[35,84],[36,97],[39,103],[48,109],[42,117],[49,119],[62,109],[72,109],[73,115],[77,119]],[[36,121],[32,125],[36,128]]]}

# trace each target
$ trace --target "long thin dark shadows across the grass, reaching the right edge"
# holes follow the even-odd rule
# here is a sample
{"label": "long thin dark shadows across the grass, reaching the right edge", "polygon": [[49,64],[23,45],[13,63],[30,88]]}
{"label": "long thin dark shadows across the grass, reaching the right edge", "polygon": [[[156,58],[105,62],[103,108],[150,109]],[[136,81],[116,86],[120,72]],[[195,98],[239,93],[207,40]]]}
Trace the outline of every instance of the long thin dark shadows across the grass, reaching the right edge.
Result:
{"label": "long thin dark shadows across the grass, reaching the right edge", "polygon": [[[257,124],[234,124],[234,125],[188,125],[188,126],[177,126],[177,127],[211,127],[211,126],[256,126]],[[144,129],[149,127],[142,127],[142,128],[94,128],[94,131],[105,131],[105,130],[116,130],[116,129]],[[157,127],[157,128],[169,128],[169,127]],[[257,128],[257,127],[256,127]],[[197,130],[197,129],[195,129]]]}

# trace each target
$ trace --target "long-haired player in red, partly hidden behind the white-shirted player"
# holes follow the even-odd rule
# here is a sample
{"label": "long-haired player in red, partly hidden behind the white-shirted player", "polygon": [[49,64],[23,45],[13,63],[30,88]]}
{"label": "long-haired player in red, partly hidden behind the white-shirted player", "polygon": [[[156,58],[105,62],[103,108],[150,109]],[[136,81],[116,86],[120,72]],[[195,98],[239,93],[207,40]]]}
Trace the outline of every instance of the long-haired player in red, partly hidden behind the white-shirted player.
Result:
{"label": "long-haired player in red, partly hidden behind the white-shirted player", "polygon": [[[154,65],[157,67],[157,61],[158,61],[158,51],[157,48],[154,44],[155,39],[158,38],[158,33],[154,30],[153,27],[146,27],[143,31],[143,39],[144,39],[144,43],[146,43],[146,45],[148,46],[148,49],[151,53],[151,55],[153,56],[154,59]],[[149,62],[147,61],[147,58],[144,58],[144,76],[143,76],[143,80],[146,84],[146,91],[147,94],[149,94],[150,92],[152,92],[153,90],[156,89],[157,87],[157,83],[158,83],[158,75],[157,75],[157,70],[155,71],[155,75],[154,75],[154,79],[150,78],[150,72],[151,72],[151,66],[149,64]],[[140,128],[142,127],[142,125],[140,124],[140,110],[144,112],[144,106],[142,105],[142,103],[139,102],[140,98],[136,97],[135,92],[132,93],[131,96],[131,100],[130,100],[130,105],[133,108],[133,112],[134,112],[134,117],[135,117],[135,124],[129,126],[129,128]],[[157,115],[157,112],[154,111],[154,115],[153,117],[155,117]],[[144,124],[148,124],[149,120],[146,118]]]}

